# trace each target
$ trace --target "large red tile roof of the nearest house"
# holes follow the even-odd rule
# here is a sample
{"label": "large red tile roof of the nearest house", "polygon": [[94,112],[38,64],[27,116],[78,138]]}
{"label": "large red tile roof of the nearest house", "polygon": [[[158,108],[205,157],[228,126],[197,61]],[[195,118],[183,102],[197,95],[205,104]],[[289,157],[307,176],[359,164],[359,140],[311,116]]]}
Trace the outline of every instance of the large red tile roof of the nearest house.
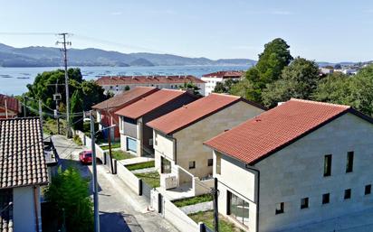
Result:
{"label": "large red tile roof of the nearest house", "polygon": [[361,116],[349,106],[291,99],[215,136],[205,144],[252,164],[346,112]]}

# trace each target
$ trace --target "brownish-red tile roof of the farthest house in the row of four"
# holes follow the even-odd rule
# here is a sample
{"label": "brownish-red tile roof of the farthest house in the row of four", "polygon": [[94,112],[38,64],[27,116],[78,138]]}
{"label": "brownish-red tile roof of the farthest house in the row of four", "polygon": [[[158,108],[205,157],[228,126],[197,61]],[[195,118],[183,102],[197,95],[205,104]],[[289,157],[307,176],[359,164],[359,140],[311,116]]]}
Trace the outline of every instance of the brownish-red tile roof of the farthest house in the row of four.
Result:
{"label": "brownish-red tile roof of the farthest house in the row of four", "polygon": [[151,93],[158,91],[158,88],[152,87],[136,87],[129,91],[125,91],[119,95],[111,97],[99,104],[93,106],[94,109],[111,109],[116,107],[123,107],[131,102],[139,100],[140,97],[146,97]]}

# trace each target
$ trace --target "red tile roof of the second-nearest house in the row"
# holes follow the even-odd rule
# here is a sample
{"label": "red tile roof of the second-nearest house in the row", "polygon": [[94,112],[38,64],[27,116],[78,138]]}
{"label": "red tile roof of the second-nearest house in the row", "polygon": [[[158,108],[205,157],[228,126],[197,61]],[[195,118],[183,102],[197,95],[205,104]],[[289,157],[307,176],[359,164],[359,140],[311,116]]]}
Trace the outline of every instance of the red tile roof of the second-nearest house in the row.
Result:
{"label": "red tile roof of the second-nearest house in the row", "polygon": [[165,116],[158,117],[147,125],[170,135],[241,100],[242,97],[212,93]]}

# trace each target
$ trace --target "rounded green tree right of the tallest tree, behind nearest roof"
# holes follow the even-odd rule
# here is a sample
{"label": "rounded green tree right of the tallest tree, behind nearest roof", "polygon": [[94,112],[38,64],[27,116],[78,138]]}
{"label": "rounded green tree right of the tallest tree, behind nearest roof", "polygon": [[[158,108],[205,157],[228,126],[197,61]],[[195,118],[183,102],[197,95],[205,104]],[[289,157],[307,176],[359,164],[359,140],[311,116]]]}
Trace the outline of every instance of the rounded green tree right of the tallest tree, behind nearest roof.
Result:
{"label": "rounded green tree right of the tallest tree, behind nearest roof", "polygon": [[267,84],[262,93],[263,104],[275,107],[278,102],[292,97],[310,99],[319,79],[318,65],[314,61],[298,57],[282,70],[281,79]]}

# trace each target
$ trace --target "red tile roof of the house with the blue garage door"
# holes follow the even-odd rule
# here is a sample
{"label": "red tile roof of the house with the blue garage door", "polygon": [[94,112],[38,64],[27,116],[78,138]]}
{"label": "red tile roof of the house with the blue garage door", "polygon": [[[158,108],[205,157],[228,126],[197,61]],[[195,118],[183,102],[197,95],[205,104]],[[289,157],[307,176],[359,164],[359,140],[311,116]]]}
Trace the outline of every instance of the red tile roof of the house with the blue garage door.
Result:
{"label": "red tile roof of the house with the blue garage door", "polygon": [[115,112],[115,114],[138,119],[152,110],[165,105],[167,102],[185,94],[188,93],[182,90],[160,89],[157,92],[150,94],[148,97],[143,97],[139,101],[121,108]]}

